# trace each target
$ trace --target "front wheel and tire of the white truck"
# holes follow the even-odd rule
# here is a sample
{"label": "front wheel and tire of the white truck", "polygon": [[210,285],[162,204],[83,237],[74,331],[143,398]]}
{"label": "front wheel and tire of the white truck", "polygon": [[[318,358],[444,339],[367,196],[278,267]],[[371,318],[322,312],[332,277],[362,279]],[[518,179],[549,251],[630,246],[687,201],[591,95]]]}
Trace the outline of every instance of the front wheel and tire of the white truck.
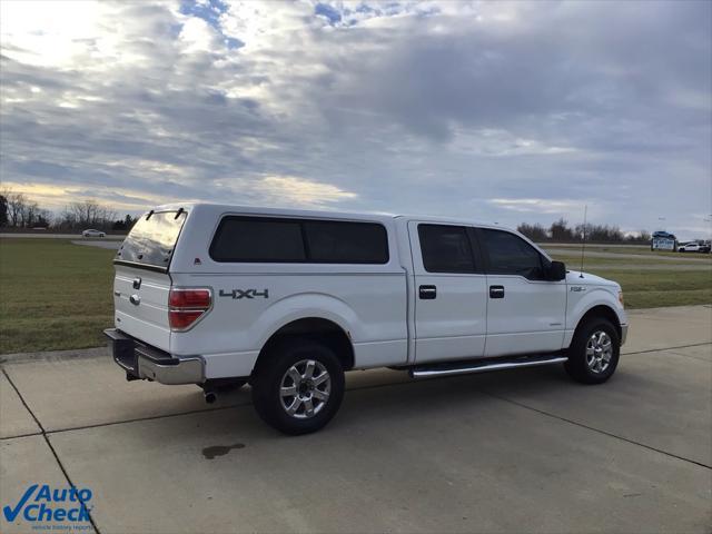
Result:
{"label": "front wheel and tire of the white truck", "polygon": [[593,318],[581,325],[568,348],[566,373],[582,384],[606,382],[619,365],[621,338],[610,320]]}

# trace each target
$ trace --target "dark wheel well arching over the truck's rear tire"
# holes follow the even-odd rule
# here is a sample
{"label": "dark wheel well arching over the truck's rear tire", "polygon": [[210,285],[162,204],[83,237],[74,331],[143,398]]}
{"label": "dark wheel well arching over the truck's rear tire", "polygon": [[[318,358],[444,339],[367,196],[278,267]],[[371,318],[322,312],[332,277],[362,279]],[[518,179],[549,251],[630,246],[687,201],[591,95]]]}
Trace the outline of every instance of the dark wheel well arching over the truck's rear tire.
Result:
{"label": "dark wheel well arching over the truck's rear tire", "polygon": [[[275,332],[265,346],[259,352],[257,364],[269,354],[270,349],[278,343],[289,337],[301,337],[324,343],[336,357],[342,362],[344,370],[354,367],[354,346],[349,335],[336,323],[319,317],[308,317],[293,320]],[[255,367],[257,367],[255,364]]]}

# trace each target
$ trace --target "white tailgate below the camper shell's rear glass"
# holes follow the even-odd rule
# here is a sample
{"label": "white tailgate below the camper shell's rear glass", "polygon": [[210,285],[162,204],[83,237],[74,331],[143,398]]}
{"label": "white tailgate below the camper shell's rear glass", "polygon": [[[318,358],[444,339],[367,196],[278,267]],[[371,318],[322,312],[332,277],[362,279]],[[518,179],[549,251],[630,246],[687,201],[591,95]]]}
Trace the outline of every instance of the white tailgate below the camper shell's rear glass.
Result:
{"label": "white tailgate below the camper shell's rear glass", "polygon": [[116,327],[161,350],[170,350],[168,293],[170,276],[147,269],[116,266],[113,307]]}

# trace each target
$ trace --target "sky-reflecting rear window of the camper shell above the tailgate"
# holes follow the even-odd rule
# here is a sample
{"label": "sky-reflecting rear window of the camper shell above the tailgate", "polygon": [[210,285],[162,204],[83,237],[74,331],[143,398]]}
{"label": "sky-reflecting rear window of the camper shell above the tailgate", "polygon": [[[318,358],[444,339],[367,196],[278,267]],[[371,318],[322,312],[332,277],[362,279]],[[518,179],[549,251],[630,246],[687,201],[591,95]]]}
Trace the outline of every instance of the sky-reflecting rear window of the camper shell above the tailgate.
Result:
{"label": "sky-reflecting rear window of the camper shell above the tailgate", "polygon": [[168,270],[186,211],[160,211],[142,216],[116,255],[115,263],[140,264]]}

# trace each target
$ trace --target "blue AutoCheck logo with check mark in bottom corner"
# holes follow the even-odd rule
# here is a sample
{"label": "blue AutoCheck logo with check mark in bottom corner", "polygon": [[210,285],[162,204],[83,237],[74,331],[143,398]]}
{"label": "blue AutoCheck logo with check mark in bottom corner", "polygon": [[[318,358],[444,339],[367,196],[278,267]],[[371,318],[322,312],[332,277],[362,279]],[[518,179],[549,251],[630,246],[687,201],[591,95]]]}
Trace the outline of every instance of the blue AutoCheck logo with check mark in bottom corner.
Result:
{"label": "blue AutoCheck logo with check mark in bottom corner", "polygon": [[[91,490],[77,487],[50,487],[32,484],[13,506],[3,506],[4,518],[12,523],[22,518],[32,530],[88,530]],[[53,523],[50,527],[42,523]],[[86,524],[82,524],[86,523]]]}

